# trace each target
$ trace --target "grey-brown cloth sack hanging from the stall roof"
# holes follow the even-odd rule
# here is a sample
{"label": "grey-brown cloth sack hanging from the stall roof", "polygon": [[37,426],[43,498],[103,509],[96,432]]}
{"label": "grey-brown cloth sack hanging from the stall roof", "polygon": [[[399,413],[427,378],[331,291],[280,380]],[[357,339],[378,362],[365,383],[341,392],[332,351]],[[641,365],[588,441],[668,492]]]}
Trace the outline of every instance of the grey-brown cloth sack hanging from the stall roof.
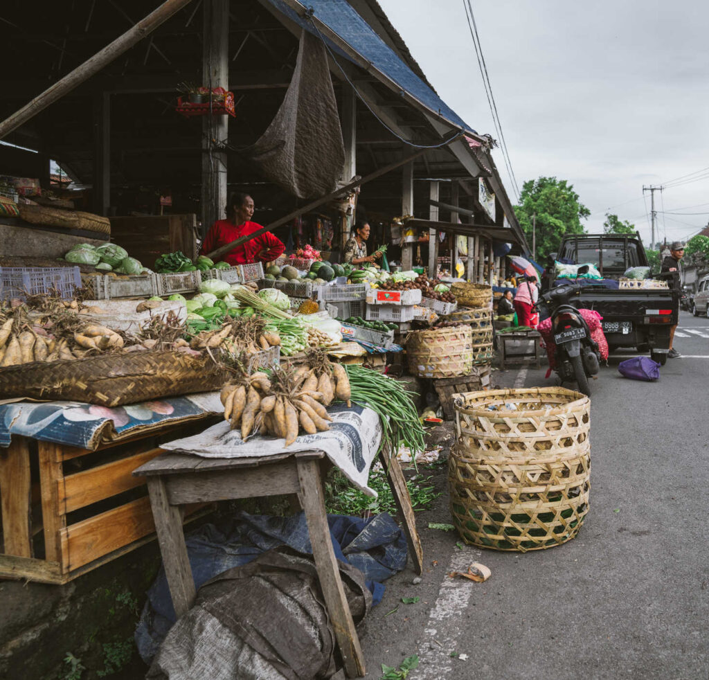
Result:
{"label": "grey-brown cloth sack hanging from the stall roof", "polygon": [[325,45],[307,31],[286,98],[245,155],[264,177],[299,199],[329,194],[342,175],[345,145],[328,57]]}

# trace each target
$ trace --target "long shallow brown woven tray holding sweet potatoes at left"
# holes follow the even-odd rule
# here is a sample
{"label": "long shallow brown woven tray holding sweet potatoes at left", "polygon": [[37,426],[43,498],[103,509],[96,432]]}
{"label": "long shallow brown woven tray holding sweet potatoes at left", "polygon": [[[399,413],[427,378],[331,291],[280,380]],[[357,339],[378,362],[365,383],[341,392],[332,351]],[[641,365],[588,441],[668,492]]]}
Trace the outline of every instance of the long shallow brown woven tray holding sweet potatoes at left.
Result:
{"label": "long shallow brown woven tray holding sweet potatoes at left", "polygon": [[183,352],[121,352],[0,369],[0,398],[122,406],[220,389],[228,377],[207,357]]}

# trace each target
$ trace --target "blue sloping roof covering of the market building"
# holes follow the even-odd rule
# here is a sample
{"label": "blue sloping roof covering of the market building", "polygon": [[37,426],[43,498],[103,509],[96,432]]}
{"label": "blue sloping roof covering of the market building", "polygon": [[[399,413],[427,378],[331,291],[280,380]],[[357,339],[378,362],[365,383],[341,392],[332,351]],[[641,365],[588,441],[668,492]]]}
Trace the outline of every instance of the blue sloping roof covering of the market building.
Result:
{"label": "blue sloping roof covering of the market building", "polygon": [[[287,16],[291,21],[298,23],[311,33],[317,31],[306,18],[301,18],[298,13],[291,9],[283,0],[267,0],[275,9]],[[401,60],[376,31],[364,21],[362,16],[347,2],[347,0],[303,0],[303,6],[313,9],[313,16],[320,22],[328,26],[333,33],[340,36],[342,40],[350,45],[355,52],[362,55],[365,60],[389,79],[393,80],[403,91],[406,91],[414,99],[431,111],[438,113],[442,118],[451,123],[452,126],[475,133],[455,111],[448,106],[445,101],[423,82],[406,62]],[[329,43],[329,41],[328,41]],[[333,48],[333,43],[329,43]],[[337,50],[340,57],[351,60],[341,50]]]}

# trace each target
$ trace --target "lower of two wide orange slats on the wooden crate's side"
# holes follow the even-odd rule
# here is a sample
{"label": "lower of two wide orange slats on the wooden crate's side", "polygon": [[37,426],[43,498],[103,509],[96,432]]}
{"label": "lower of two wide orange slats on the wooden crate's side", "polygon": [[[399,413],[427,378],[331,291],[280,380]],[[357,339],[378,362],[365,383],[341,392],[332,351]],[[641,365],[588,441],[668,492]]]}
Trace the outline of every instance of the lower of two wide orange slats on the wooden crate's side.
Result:
{"label": "lower of two wide orange slats on the wooden crate's side", "polygon": [[138,498],[60,530],[62,567],[82,567],[155,531],[150,499]]}

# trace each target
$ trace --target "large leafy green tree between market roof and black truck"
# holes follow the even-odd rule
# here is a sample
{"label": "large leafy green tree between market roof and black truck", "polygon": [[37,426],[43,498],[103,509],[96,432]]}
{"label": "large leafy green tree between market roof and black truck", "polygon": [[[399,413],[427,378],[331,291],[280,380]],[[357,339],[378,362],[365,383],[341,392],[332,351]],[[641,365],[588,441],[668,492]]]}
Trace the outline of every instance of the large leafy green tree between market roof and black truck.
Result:
{"label": "large leafy green tree between market roof and black truck", "polygon": [[536,259],[542,262],[550,252],[559,249],[564,234],[584,233],[581,220],[591,211],[579,203],[579,194],[566,179],[539,177],[524,183],[515,214],[529,245],[532,245],[532,221],[536,216]]}

